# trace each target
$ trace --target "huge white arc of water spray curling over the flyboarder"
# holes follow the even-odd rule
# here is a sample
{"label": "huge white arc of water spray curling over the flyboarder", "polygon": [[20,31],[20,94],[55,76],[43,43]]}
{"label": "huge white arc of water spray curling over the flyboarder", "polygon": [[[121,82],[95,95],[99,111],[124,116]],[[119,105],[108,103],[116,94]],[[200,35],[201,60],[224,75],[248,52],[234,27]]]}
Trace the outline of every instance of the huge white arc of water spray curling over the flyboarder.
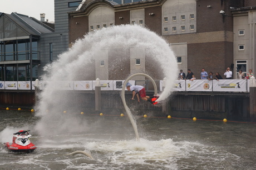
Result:
{"label": "huge white arc of water spray curling over the flyboarder", "polygon": [[[37,123],[37,130],[41,133],[58,134],[60,132],[79,132],[87,127],[85,121],[76,117],[66,116],[60,113],[63,108],[70,110],[77,106],[67,104],[66,99],[71,96],[67,92],[56,94],[56,81],[92,80],[95,77],[95,59],[102,51],[116,52],[116,65],[122,65],[124,58],[118,54],[121,49],[122,54],[130,51],[130,48],[146,49],[146,57],[154,63],[160,65],[163,70],[166,86],[158,101],[165,100],[171,92],[171,87],[177,75],[178,65],[169,44],[154,32],[139,25],[120,25],[111,28],[103,28],[94,33],[88,33],[83,39],[78,39],[73,47],[61,54],[55,62],[45,66],[46,74],[42,76],[45,87],[40,94],[40,102],[37,104],[37,116],[41,120]],[[127,52],[128,53],[128,52]],[[111,70],[115,73],[115,69]],[[125,80],[126,76],[124,76]],[[86,105],[86,104],[85,104]]]}

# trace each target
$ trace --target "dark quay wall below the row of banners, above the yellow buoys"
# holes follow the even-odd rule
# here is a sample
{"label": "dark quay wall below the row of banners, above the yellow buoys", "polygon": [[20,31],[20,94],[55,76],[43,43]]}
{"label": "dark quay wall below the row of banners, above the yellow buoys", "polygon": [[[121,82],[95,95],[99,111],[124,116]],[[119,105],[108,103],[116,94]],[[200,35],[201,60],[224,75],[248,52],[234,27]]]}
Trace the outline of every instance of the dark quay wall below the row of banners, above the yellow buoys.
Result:
{"label": "dark quay wall below the row of banners, above the yellow buoys", "polygon": [[[101,110],[95,111],[95,91],[57,91],[67,93],[62,102],[63,110],[87,113],[125,114],[121,91],[101,91]],[[147,95],[153,95],[147,91]],[[130,100],[131,92],[126,92],[126,102],[134,115],[168,116],[197,119],[251,121],[249,92],[174,92],[163,105]],[[255,99],[254,99],[255,100]],[[34,107],[35,91],[0,91],[1,107]],[[54,106],[53,106],[54,107]],[[252,108],[252,107],[251,107]],[[253,107],[254,108],[254,107]]]}

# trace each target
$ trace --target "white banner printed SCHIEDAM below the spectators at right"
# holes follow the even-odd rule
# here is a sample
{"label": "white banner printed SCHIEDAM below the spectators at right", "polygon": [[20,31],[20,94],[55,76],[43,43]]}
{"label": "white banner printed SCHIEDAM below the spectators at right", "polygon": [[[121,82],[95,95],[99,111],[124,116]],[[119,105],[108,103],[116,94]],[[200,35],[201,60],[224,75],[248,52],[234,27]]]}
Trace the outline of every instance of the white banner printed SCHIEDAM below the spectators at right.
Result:
{"label": "white banner printed SCHIEDAM below the spectators at right", "polygon": [[213,91],[247,91],[247,80],[213,80]]}

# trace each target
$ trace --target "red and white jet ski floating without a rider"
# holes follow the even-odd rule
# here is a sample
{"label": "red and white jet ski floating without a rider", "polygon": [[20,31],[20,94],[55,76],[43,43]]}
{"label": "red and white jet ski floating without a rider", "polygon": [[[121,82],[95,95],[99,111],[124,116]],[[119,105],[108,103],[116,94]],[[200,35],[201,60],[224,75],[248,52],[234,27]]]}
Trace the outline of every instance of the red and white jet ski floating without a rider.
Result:
{"label": "red and white jet ski floating without a rider", "polygon": [[21,130],[17,133],[13,133],[12,145],[10,145],[9,142],[4,143],[4,145],[12,152],[33,152],[36,149],[36,146],[29,140],[29,137],[32,135],[29,135],[28,132],[29,131]]}

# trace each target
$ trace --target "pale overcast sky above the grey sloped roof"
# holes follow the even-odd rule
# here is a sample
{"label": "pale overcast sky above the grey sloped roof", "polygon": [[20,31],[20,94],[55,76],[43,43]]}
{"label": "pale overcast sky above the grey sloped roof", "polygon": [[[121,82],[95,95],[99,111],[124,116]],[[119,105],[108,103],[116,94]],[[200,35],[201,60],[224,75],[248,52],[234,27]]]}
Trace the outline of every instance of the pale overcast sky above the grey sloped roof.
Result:
{"label": "pale overcast sky above the grey sloped roof", "polygon": [[40,20],[40,13],[45,13],[45,20],[54,21],[54,0],[0,0],[0,12],[17,12]]}

